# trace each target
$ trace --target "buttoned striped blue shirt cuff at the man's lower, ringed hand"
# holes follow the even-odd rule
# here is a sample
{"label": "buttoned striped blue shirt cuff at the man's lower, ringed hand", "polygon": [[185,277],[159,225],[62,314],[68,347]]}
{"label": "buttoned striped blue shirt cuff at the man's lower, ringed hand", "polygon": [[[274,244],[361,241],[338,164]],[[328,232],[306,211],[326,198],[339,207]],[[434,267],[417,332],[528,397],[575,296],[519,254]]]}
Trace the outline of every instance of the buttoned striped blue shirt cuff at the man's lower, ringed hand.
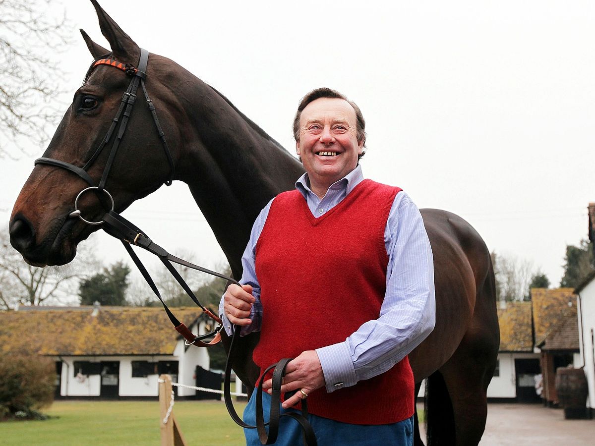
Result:
{"label": "buttoned striped blue shirt cuff at the man's lower, ringed hand", "polygon": [[317,348],[324,383],[327,392],[334,392],[343,387],[350,387],[358,382],[353,368],[353,360],[346,343]]}

